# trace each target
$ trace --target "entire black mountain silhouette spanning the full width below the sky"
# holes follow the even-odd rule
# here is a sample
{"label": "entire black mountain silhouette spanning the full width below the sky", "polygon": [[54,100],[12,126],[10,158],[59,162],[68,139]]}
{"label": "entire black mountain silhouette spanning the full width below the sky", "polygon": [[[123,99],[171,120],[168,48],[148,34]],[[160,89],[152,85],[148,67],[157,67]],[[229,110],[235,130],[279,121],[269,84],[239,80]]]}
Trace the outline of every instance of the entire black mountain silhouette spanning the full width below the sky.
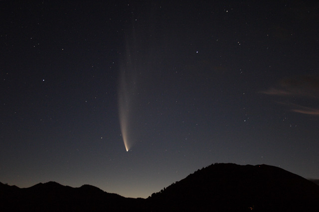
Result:
{"label": "entire black mountain silhouette spanning the full width below the sky", "polygon": [[275,166],[215,163],[147,199],[90,185],[0,183],[0,211],[319,211],[319,186]]}

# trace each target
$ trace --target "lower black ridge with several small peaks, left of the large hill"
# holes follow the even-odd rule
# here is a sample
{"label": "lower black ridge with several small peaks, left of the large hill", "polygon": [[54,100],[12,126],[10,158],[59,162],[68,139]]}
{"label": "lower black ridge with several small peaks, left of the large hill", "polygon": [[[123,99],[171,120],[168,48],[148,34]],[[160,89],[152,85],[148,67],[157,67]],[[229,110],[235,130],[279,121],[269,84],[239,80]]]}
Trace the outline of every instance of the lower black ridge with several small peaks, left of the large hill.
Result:
{"label": "lower black ridge with several small peaks, left of the large hill", "polygon": [[129,207],[141,208],[136,204],[140,204],[138,199],[90,185],[72,188],[48,182],[23,189],[0,185],[0,211],[128,211]]}

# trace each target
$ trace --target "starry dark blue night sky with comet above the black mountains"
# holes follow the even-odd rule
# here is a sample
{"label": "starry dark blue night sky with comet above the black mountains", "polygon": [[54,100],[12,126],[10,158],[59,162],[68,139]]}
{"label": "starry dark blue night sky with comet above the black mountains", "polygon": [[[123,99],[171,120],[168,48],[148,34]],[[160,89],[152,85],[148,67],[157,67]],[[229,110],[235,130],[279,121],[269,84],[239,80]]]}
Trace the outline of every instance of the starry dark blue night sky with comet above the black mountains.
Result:
{"label": "starry dark blue night sky with comet above the black mountains", "polygon": [[0,18],[0,182],[147,198],[216,162],[319,178],[319,3],[4,0]]}

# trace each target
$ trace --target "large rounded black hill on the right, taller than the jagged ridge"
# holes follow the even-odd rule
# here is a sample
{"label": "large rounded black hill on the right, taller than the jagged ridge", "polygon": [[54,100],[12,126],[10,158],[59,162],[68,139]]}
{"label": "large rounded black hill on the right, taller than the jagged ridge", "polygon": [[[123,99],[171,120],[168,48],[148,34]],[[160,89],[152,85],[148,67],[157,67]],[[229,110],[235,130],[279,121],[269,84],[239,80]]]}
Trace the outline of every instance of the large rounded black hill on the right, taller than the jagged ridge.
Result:
{"label": "large rounded black hill on the right, taller than the jagged ridge", "polygon": [[214,164],[148,198],[154,211],[319,209],[319,186],[269,165]]}

